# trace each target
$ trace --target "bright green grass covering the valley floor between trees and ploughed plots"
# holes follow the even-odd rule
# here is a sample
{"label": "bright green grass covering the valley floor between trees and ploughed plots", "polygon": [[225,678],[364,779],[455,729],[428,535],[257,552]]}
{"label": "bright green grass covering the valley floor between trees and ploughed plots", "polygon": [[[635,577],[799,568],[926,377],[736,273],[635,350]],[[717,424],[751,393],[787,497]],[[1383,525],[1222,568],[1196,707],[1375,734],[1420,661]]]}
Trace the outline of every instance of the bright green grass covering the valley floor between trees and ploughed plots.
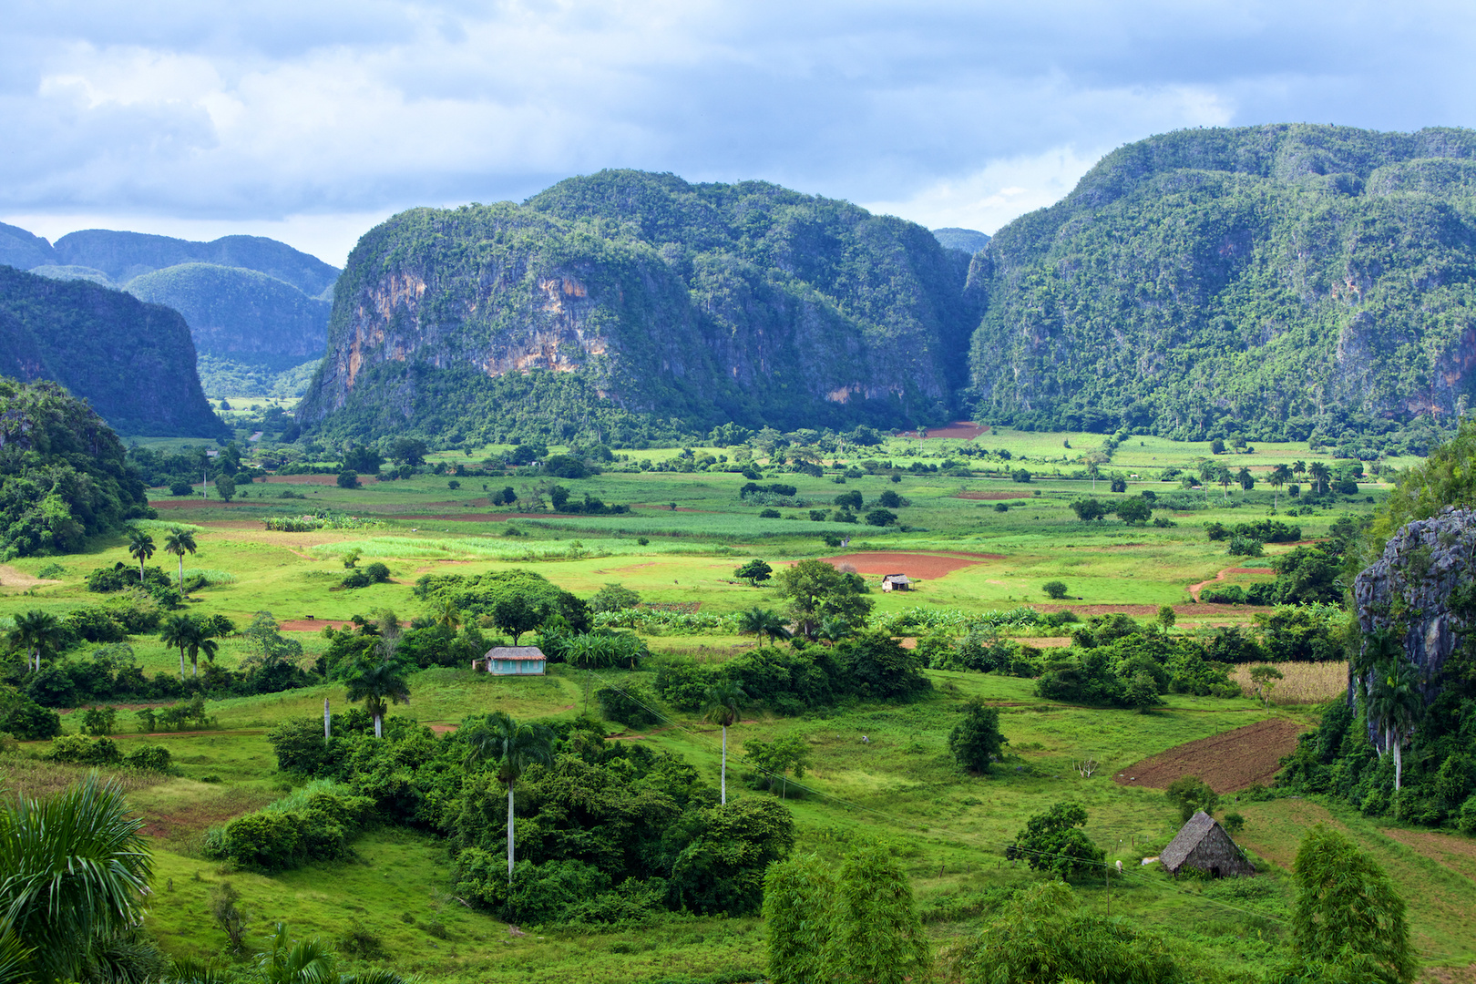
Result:
{"label": "bright green grass covering the valley floor between trees and ploughed plots", "polygon": [[[574,497],[590,494],[607,503],[632,506],[617,516],[521,515],[496,509],[487,491],[512,485],[524,502],[537,493],[530,477],[483,478],[421,475],[406,481],[369,482],[341,490],[319,477],[292,477],[245,487],[230,503],[202,499],[156,499],[159,530],[189,524],[198,550],[186,568],[223,572],[229,581],[196,592],[189,609],[224,614],[244,624],[255,612],[279,620],[347,620],[390,608],[401,618],[421,614],[412,595],[418,577],[430,572],[474,574],[525,567],[577,595],[587,596],[608,583],[621,583],[655,603],[697,603],[701,612],[734,612],[754,605],[776,606],[772,592],[738,581],[734,568],[750,558],[772,564],[846,553],[949,553],[992,555],[939,577],[922,578],[908,593],[874,593],[878,612],[906,608],[946,608],[983,612],[1039,605],[1041,586],[1066,581],[1063,603],[1083,615],[1129,611],[1151,617],[1159,605],[1178,611],[1176,631],[1247,623],[1246,608],[1194,603],[1191,586],[1268,578],[1263,565],[1289,546],[1268,544],[1265,558],[1231,558],[1225,544],[1210,541],[1207,522],[1244,522],[1266,516],[1280,499],[1278,518],[1302,527],[1303,540],[1324,536],[1342,515],[1368,515],[1386,487],[1368,482],[1356,497],[1342,497],[1336,507],[1289,518],[1287,496],[1263,484],[1253,491],[1238,487],[1225,494],[1185,493],[1194,509],[1157,513],[1175,525],[1129,528],[1120,521],[1080,522],[1070,502],[1092,496],[1122,497],[1098,481],[1070,478],[1082,469],[1077,457],[1100,448],[1101,435],[995,432],[977,440],[989,448],[1010,450],[1013,463],[1027,462],[1036,477],[1023,484],[1007,478],[956,478],[937,472],[905,474],[900,482],[884,477],[809,478],[772,472],[765,481],[797,485],[806,506],[779,506],[781,518],[760,518],[760,506],[739,499],[747,481],[719,472],[607,471],[580,481],[561,481]],[[1070,448],[1066,444],[1070,444]],[[939,463],[956,454],[959,443],[897,440],[863,448],[861,459],[899,465]],[[486,448],[487,451],[496,448]],[[725,448],[711,448],[714,454]],[[673,450],[630,451],[633,460],[666,462]],[[1135,474],[1129,491],[1179,494],[1172,482],[1150,481],[1169,466],[1185,466],[1207,456],[1206,446],[1132,438],[1104,472]],[[441,454],[432,460],[474,462]],[[1255,453],[1228,454],[1227,465],[1253,472],[1293,460],[1330,460],[1306,446],[1258,446]],[[843,462],[844,463],[844,462]],[[1398,465],[1398,462],[1389,462]],[[452,490],[449,481],[461,481]],[[1303,482],[1305,487],[1305,482]],[[908,531],[838,522],[813,522],[809,509],[828,509],[840,493],[861,491],[866,507],[883,491],[896,491],[911,505],[896,512]],[[161,490],[155,490],[161,491]],[[289,491],[301,499],[280,499]],[[1373,502],[1368,502],[1373,499]],[[675,509],[672,506],[676,506]],[[996,506],[1004,505],[1004,510]],[[382,522],[368,530],[267,533],[263,519],[329,506]],[[825,536],[850,537],[847,547],[827,546]],[[645,538],[646,543],[639,540]],[[345,590],[342,556],[359,550],[384,561],[391,583]],[[174,572],[173,558],[165,571]],[[0,567],[0,620],[22,611],[56,614],[99,600],[84,578],[96,567],[130,564],[120,538],[93,543],[87,553],[65,558],[28,558]],[[47,567],[46,580],[37,575]],[[905,572],[905,567],[899,562]],[[1231,568],[1252,572],[1227,574]],[[1265,569],[1265,574],[1255,571]],[[874,586],[875,574],[866,575]],[[304,646],[304,659],[322,652],[326,642],[314,631],[292,633]],[[657,652],[679,652],[701,659],[725,659],[751,639],[731,633],[652,634]],[[130,640],[146,673],[177,671],[179,654],[156,637]],[[239,639],[227,639],[217,659],[235,667],[246,655]],[[893,845],[912,879],[927,915],[933,940],[943,944],[976,932],[977,909],[968,900],[993,885],[1023,885],[1035,878],[1004,860],[1004,845],[1036,811],[1063,800],[1077,800],[1089,811],[1088,832],[1122,860],[1128,876],[1110,890],[1079,887],[1085,903],[1137,925],[1159,928],[1184,947],[1185,960],[1203,968],[1204,980],[1259,980],[1258,963],[1277,952],[1286,938],[1290,898],[1287,872],[1302,832],[1315,822],[1345,828],[1393,875],[1410,901],[1411,924],[1429,966],[1454,968],[1476,960],[1476,938],[1469,912],[1476,909],[1476,862],[1472,841],[1421,829],[1384,826],[1346,807],[1315,800],[1274,800],[1235,804],[1247,820],[1244,844],[1259,857],[1265,878],[1249,894],[1235,895],[1218,884],[1173,882],[1139,859],[1153,856],[1178,826],[1176,813],[1162,792],[1113,780],[1116,772],[1185,742],[1221,735],[1265,720],[1299,726],[1314,720],[1312,705],[1333,695],[1346,679],[1342,665],[1283,667],[1287,679],[1271,708],[1249,696],[1234,699],[1169,696],[1153,714],[1067,707],[1035,696],[1030,680],[970,673],[930,671],[934,690],[906,705],[847,705],[799,718],[757,716],[731,732],[731,761],[753,739],[799,736],[812,751],[813,767],[804,789],[790,800],[800,847],[838,856],[858,838]],[[1244,668],[1243,668],[1244,673]],[[605,671],[610,680],[649,680],[646,671]],[[598,683],[599,680],[596,680]],[[1247,677],[1249,682],[1249,677]],[[505,710],[518,718],[577,714],[583,707],[586,677],[554,667],[540,679],[508,680],[466,670],[428,670],[410,680],[412,699],[397,713],[427,724],[455,724],[466,714]],[[1011,758],[992,777],[964,775],[952,761],[946,736],[967,698],[999,707]],[[156,895],[149,928],[179,956],[217,954],[223,934],[208,918],[211,887],[230,881],[251,916],[251,934],[264,934],[285,919],[295,934],[323,934],[347,940],[365,931],[378,937],[382,953],[353,957],[350,966],[387,962],[422,974],[431,984],[472,981],[624,981],[701,980],[710,975],[760,972],[765,966],[763,926],[757,919],[695,919],[673,916],[639,931],[580,934],[567,929],[528,929],[514,935],[484,913],[468,909],[449,894],[446,850],[422,834],[379,829],[363,835],[356,857],[331,866],[300,869],[279,876],[233,872],[199,859],[204,831],[232,816],[257,808],[291,789],[279,775],[266,733],[292,717],[322,714],[323,699],[344,705],[338,686],[317,686],[286,693],[211,702],[215,726],[208,732],[142,736],[133,714],[120,714],[124,751],[140,744],[162,744],[179,764],[170,777],[130,777],[130,800],[148,823],[156,850]],[[78,716],[65,716],[65,729],[77,730]],[[618,726],[613,732],[620,733]],[[862,738],[866,741],[863,742]],[[716,780],[719,744],[713,726],[672,716],[639,736],[652,748],[683,755]],[[35,749],[0,758],[4,782],[18,791],[46,792],[65,785],[75,770],[38,763]],[[1083,760],[1097,763],[1086,777]],[[729,789],[734,789],[732,777]],[[750,792],[739,795],[772,795]],[[1232,797],[1231,797],[1232,798]],[[962,900],[962,901],[961,901]],[[968,915],[971,912],[971,915]],[[965,913],[965,915],[958,915]]]}

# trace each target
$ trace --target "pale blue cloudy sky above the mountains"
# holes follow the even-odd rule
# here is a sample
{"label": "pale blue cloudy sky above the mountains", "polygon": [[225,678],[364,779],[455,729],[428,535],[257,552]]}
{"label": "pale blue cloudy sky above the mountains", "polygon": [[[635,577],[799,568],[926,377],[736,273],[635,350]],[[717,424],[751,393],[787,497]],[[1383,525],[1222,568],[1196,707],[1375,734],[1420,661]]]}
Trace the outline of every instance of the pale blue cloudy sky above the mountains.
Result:
{"label": "pale blue cloudy sky above the mountains", "polygon": [[1476,4],[6,0],[0,220],[282,239],[607,167],[995,232],[1182,127],[1476,125]]}

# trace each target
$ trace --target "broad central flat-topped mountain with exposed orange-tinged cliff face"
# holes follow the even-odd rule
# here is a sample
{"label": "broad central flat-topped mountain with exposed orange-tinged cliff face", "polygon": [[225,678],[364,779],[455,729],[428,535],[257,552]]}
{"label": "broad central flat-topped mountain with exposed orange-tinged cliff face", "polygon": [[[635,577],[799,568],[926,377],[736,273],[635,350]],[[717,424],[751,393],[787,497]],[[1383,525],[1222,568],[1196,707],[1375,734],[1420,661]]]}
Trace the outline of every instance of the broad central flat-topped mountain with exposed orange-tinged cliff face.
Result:
{"label": "broad central flat-topped mountain with exposed orange-tinged cliff face", "polygon": [[450,440],[945,419],[967,268],[921,226],[762,181],[601,171],[412,209],[350,257],[300,419]]}

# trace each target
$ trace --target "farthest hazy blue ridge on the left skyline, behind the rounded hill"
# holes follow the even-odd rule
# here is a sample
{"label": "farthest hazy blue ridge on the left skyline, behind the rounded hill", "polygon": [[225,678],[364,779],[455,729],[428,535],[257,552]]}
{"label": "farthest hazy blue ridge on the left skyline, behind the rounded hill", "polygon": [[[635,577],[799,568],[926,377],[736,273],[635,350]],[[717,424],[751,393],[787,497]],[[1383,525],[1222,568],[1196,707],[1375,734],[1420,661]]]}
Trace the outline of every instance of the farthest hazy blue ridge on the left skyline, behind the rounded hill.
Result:
{"label": "farthest hazy blue ridge on the left skyline, behind the rounded hill", "polygon": [[337,267],[263,236],[190,242],[137,232],[84,229],[58,239],[50,263],[102,270],[115,283],[183,263],[213,263],[266,273],[313,298],[323,297],[338,279]]}

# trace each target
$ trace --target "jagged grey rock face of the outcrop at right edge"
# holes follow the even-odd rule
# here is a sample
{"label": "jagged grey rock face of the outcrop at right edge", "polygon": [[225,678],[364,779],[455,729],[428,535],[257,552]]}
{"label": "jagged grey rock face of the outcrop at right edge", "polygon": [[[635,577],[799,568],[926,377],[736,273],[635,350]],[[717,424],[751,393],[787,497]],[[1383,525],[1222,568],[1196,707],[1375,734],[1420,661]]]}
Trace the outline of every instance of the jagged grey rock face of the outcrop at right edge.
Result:
{"label": "jagged grey rock face of the outcrop at right edge", "polygon": [[[1476,512],[1446,506],[1399,530],[1383,556],[1353,581],[1358,628],[1367,634],[1404,627],[1404,651],[1418,667],[1426,704],[1439,692],[1445,661],[1464,631],[1464,623],[1451,611],[1451,597],[1473,577]],[[1348,687],[1352,699],[1352,677]]]}

